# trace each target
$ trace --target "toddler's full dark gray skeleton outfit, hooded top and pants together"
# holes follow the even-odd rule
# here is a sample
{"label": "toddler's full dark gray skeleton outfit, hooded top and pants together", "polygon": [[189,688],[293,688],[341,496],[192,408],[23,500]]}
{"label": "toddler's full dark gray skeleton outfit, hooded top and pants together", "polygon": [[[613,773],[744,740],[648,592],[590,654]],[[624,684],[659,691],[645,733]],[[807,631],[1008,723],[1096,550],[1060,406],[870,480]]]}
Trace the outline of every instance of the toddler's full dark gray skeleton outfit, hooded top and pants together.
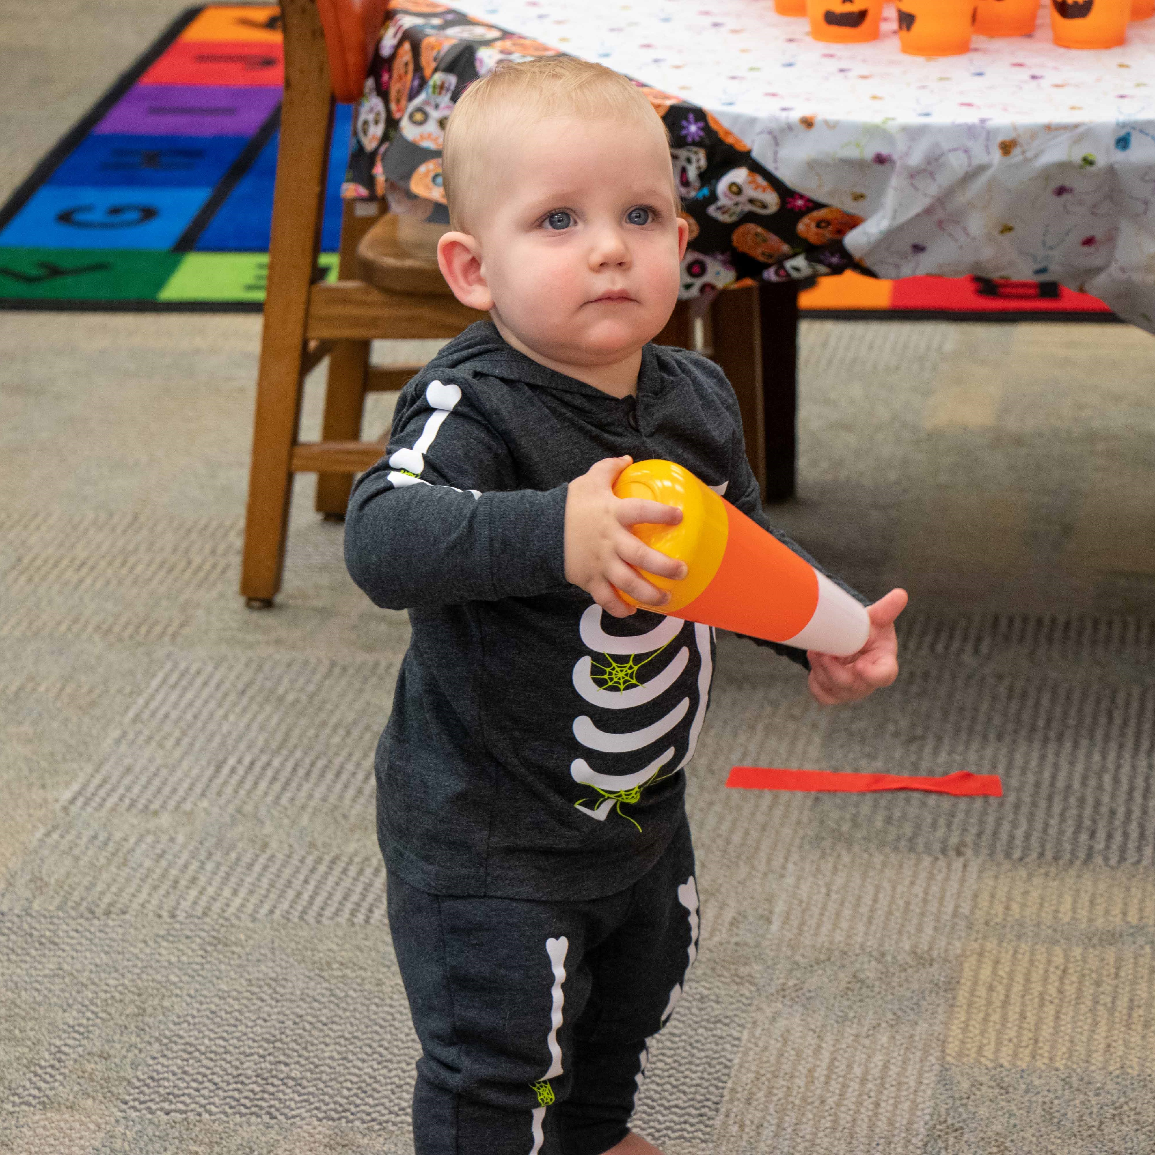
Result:
{"label": "toddler's full dark gray skeleton outfit, hooded top and pants together", "polygon": [[564,575],[567,483],[624,454],[677,461],[766,526],[711,362],[647,345],[616,398],[486,321],[405,386],[350,499],[349,572],[412,624],[377,780],[418,1155],[612,1147],[696,951],[683,770],[711,631],[612,618]]}

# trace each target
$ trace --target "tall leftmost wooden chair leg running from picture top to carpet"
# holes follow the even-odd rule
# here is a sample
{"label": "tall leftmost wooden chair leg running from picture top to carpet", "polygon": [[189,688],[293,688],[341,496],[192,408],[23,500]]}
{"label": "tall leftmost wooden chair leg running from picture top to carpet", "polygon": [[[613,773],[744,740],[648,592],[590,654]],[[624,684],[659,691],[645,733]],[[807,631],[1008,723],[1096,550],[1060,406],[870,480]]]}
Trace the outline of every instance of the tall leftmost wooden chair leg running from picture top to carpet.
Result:
{"label": "tall leftmost wooden chair leg running from picture top to carpet", "polygon": [[240,593],[251,606],[281,589],[292,448],[300,420],[308,292],[320,246],[333,98],[314,0],[283,0],[285,97],[253,422]]}

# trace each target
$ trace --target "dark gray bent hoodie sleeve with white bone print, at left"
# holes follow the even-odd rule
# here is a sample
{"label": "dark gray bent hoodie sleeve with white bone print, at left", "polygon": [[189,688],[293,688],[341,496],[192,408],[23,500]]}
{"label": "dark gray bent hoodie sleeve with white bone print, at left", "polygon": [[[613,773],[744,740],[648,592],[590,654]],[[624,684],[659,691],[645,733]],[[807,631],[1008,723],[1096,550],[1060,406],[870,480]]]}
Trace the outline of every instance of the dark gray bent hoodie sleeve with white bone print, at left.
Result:
{"label": "dark gray bent hoodie sleeve with white bone print, at left", "polygon": [[390,610],[565,587],[566,486],[515,489],[508,448],[470,392],[405,387],[386,455],[353,487],[345,565]]}

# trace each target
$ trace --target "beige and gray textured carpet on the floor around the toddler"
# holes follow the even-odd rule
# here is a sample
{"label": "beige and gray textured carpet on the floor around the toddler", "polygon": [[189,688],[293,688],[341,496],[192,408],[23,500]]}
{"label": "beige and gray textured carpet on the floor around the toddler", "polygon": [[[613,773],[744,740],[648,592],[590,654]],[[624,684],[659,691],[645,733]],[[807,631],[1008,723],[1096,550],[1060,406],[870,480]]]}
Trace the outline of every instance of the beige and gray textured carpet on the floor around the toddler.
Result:
{"label": "beige and gray textured carpet on the floor around the toddler", "polygon": [[[3,179],[178,7],[0,8]],[[0,1152],[412,1149],[371,781],[408,625],[307,478],[278,606],[243,608],[258,338],[0,315]],[[723,641],[701,951],[639,1104],[669,1155],[1155,1149],[1153,386],[1123,327],[804,325],[774,515],[911,591],[903,672],[822,710]],[[1006,797],[726,791],[735,762]]]}

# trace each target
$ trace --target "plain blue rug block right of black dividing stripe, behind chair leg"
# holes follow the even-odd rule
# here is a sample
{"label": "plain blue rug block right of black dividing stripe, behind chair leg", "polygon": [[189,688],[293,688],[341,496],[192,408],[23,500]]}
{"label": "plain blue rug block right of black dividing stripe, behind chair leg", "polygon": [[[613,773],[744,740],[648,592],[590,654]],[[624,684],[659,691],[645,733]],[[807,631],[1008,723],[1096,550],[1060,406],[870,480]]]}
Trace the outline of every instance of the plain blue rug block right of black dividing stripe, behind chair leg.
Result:
{"label": "plain blue rug block right of black dividing stripe, behind chair leg", "polygon": [[[341,182],[349,161],[352,119],[352,105],[338,104],[334,114],[325,219],[321,225],[321,252],[325,253],[335,252],[341,244]],[[198,238],[194,252],[261,253],[268,249],[278,140],[280,134],[275,133],[261,149],[248,172],[240,178]]]}

